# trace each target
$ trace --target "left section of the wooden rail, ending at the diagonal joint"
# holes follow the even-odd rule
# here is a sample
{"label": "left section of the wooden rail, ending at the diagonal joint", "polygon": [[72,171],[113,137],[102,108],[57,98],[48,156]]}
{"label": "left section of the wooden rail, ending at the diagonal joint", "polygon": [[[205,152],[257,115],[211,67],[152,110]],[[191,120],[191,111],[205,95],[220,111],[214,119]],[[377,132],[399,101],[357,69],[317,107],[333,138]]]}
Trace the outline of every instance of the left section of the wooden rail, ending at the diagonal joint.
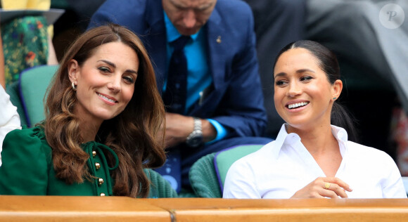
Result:
{"label": "left section of the wooden rail, ending at the diagonal joint", "polygon": [[130,197],[0,196],[0,221],[171,221],[167,210]]}

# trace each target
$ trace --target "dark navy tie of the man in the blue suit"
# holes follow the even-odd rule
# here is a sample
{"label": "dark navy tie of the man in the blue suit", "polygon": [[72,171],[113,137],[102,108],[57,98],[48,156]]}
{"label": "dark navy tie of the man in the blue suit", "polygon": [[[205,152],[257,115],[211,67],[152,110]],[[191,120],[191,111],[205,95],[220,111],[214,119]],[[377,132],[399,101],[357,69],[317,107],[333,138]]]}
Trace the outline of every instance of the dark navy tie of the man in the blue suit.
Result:
{"label": "dark navy tie of the man in the blue suit", "polygon": [[163,101],[167,112],[184,114],[187,98],[187,60],[184,46],[191,37],[181,36],[172,41],[174,51],[170,58],[167,86]]}

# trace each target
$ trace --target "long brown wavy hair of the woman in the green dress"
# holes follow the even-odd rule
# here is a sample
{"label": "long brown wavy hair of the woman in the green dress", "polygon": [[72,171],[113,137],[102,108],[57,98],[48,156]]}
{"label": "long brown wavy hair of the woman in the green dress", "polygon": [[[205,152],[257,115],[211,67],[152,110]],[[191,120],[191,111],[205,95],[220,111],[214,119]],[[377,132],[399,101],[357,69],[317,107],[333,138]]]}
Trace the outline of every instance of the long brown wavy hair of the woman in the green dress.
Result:
{"label": "long brown wavy hair of the woman in the green dress", "polygon": [[[136,34],[127,28],[113,24],[96,27],[70,46],[48,89],[43,125],[46,141],[53,150],[57,178],[68,184],[92,178],[87,168],[89,155],[79,146],[80,122],[73,113],[77,98],[68,77],[68,64],[74,59],[82,66],[96,48],[113,41],[134,49],[139,58],[138,77],[132,100],[120,115],[101,124],[96,139],[112,148],[119,159],[117,169],[110,171],[115,181],[113,194],[147,197],[150,181],[143,169],[162,166],[165,162],[164,133],[160,131],[160,125],[165,124],[165,110],[148,53]],[[108,162],[115,163],[112,155],[106,156]]]}

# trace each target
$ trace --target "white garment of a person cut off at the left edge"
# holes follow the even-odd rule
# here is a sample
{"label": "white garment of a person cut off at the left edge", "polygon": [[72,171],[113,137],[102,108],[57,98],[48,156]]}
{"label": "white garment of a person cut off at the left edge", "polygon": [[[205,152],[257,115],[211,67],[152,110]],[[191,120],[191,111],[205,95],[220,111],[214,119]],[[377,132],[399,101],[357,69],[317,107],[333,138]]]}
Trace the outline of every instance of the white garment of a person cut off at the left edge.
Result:
{"label": "white garment of a person cut off at the left edge", "polygon": [[21,129],[20,116],[17,108],[11,103],[10,96],[4,91],[3,86],[0,86],[0,152],[3,148],[4,137],[13,129]]}

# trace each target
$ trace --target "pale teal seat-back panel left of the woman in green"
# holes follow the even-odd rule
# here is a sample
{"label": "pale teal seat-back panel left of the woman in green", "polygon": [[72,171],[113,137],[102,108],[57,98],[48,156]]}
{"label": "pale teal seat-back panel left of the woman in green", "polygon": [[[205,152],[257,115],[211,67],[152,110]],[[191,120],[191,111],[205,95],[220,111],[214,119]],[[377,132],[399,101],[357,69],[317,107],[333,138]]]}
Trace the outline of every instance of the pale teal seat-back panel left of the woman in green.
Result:
{"label": "pale teal seat-back panel left of the woman in green", "polygon": [[44,120],[44,96],[58,65],[42,65],[20,74],[20,100],[25,110],[27,126]]}

